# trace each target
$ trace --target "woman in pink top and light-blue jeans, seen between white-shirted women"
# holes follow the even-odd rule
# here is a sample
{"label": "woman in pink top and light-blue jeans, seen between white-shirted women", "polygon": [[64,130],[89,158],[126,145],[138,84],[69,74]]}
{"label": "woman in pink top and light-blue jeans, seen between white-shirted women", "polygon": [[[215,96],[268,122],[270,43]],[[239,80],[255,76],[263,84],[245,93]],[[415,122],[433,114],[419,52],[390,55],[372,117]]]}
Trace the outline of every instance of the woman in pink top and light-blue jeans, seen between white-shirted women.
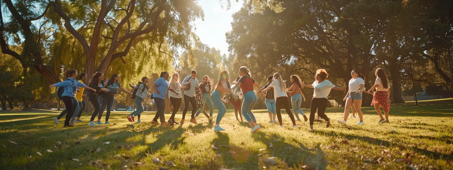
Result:
{"label": "woman in pink top and light-blue jeans, seen between white-shirted women", "polygon": [[302,93],[302,91],[300,91],[300,87],[302,87],[302,85],[300,84],[300,78],[296,75],[292,75],[290,80],[291,83],[293,84],[291,85],[291,87],[288,88],[288,93],[289,96],[291,97],[291,105],[293,106],[294,114],[296,114],[298,121],[300,121],[298,112],[304,117],[305,121],[308,121],[308,118],[304,114],[304,111],[300,109],[302,98],[304,98],[305,101],[305,96]]}

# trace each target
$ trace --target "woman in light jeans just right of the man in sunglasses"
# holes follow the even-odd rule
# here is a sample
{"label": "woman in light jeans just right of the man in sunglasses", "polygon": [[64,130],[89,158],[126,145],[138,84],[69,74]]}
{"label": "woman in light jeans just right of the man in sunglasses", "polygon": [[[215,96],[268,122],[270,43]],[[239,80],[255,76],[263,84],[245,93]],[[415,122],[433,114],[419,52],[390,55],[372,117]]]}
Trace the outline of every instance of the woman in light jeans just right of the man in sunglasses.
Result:
{"label": "woman in light jeans just right of the man in sunglasses", "polygon": [[[200,113],[203,113],[207,117],[207,119],[209,119],[209,123],[212,123],[212,113],[214,113],[214,106],[211,101],[211,89],[213,85],[214,83],[208,76],[203,77],[203,81],[199,84],[202,94],[203,107],[200,107],[197,113],[195,113],[195,117],[198,117]],[[207,106],[209,106],[209,115],[207,115],[207,113],[204,111],[204,104],[206,103]]]}

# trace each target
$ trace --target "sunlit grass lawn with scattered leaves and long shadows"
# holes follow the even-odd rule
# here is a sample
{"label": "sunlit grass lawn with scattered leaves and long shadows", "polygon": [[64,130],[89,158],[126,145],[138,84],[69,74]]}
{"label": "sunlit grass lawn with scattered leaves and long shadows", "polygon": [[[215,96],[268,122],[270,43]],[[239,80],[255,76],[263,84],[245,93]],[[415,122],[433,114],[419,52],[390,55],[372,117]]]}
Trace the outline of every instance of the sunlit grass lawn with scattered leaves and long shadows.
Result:
{"label": "sunlit grass lawn with scattered leaves and long shadows", "polygon": [[283,114],[282,128],[268,123],[267,110],[255,110],[262,128],[254,134],[234,111],[222,132],[202,114],[198,124],[156,126],[155,112],[142,113],[140,124],[127,121],[130,112],[112,112],[110,125],[90,127],[84,113],[84,122],[63,128],[52,121],[58,113],[0,112],[0,169],[453,169],[453,100],[391,104],[383,124],[374,108],[362,108],[363,126],[358,118],[338,123],[343,110],[328,108],[332,126],[315,122],[312,132],[308,121],[293,128]]}

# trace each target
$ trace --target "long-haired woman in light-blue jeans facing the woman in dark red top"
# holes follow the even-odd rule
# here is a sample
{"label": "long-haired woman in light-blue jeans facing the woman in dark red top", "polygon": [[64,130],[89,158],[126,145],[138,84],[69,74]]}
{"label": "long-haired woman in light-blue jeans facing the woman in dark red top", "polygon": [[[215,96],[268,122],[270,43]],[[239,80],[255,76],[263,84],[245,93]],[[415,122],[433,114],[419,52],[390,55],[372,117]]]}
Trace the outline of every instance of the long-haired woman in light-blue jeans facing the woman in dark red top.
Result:
{"label": "long-haired woman in light-blue jeans facing the woman in dark red top", "polygon": [[217,83],[216,88],[214,89],[214,92],[211,94],[211,101],[214,104],[215,107],[219,110],[217,113],[217,120],[216,120],[216,125],[214,126],[214,131],[225,131],[224,128],[219,126],[220,121],[222,120],[223,115],[226,113],[226,108],[223,102],[227,102],[226,100],[223,100],[222,97],[225,95],[226,92],[230,93],[235,100],[238,100],[236,94],[234,94],[231,91],[230,88],[230,74],[228,71],[224,70],[220,73],[219,76],[219,81]]}

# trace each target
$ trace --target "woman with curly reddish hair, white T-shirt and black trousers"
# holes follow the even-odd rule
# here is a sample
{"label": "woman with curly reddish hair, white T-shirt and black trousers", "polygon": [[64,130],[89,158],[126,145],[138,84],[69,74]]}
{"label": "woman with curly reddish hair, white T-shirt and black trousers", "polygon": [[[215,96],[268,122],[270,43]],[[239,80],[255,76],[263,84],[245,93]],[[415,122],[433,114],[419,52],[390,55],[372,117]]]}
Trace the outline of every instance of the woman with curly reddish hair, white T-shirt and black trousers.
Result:
{"label": "woman with curly reddish hair, white T-shirt and black trousers", "polygon": [[327,107],[327,96],[330,93],[330,89],[334,90],[346,90],[346,87],[338,87],[333,85],[330,81],[326,80],[329,74],[326,72],[325,69],[318,69],[316,70],[315,79],[316,81],[313,82],[311,85],[306,85],[302,83],[301,85],[304,87],[314,88],[313,90],[313,99],[311,102],[310,107],[310,128],[309,131],[313,131],[313,121],[314,121],[314,114],[316,113],[316,109],[318,109],[318,116],[323,118],[327,121],[326,127],[330,126],[330,119],[327,117],[324,112],[326,111]]}

